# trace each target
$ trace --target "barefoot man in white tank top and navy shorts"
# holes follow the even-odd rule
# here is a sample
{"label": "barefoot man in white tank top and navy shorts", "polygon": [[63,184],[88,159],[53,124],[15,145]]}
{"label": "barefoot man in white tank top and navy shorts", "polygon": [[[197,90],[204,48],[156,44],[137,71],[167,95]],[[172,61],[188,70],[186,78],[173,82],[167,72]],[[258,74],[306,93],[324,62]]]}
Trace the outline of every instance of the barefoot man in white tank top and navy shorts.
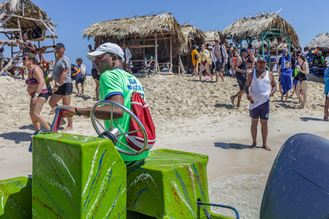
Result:
{"label": "barefoot man in white tank top and navy shorts", "polygon": [[[249,87],[252,89],[249,92]],[[262,126],[263,149],[271,151],[267,146],[267,120],[269,119],[269,97],[276,92],[276,80],[273,73],[266,70],[266,60],[264,57],[258,58],[256,70],[251,73],[245,81],[245,93],[249,103],[250,117],[252,117],[252,146],[250,149],[256,149],[257,125],[260,118]]]}

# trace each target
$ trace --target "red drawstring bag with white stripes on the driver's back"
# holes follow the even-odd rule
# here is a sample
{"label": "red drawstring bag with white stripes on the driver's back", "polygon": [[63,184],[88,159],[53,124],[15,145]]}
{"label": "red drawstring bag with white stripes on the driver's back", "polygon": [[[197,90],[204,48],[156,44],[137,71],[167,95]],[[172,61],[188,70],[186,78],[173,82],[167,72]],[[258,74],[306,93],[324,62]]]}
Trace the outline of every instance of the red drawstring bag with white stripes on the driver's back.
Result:
{"label": "red drawstring bag with white stripes on the driver's back", "polygon": [[[131,111],[141,120],[143,123],[146,133],[147,133],[147,148],[145,151],[151,149],[156,143],[156,128],[154,127],[153,120],[151,118],[151,114],[149,114],[149,108],[147,104],[141,97],[138,92],[134,92],[132,95]],[[130,127],[129,131],[136,131],[140,129],[133,118],[130,118]],[[126,135],[126,139],[128,144],[135,150],[140,151],[144,146],[144,138],[142,131],[130,133]]]}

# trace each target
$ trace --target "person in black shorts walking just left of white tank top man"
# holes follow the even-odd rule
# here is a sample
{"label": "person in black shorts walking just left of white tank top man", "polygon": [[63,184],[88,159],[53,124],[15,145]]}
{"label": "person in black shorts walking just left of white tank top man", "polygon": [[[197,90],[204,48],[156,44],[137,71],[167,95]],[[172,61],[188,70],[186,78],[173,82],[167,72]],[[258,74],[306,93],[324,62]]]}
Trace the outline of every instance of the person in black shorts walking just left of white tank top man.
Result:
{"label": "person in black shorts walking just left of white tank top man", "polygon": [[234,105],[234,99],[238,98],[238,103],[236,103],[236,107],[241,107],[241,98],[242,95],[245,93],[245,81],[247,80],[247,75],[245,74],[247,71],[246,60],[245,58],[249,55],[250,51],[247,48],[242,48],[242,55],[236,57],[236,62],[234,64],[234,70],[236,74],[236,81],[239,83],[239,92],[234,96],[231,96],[231,103]]}

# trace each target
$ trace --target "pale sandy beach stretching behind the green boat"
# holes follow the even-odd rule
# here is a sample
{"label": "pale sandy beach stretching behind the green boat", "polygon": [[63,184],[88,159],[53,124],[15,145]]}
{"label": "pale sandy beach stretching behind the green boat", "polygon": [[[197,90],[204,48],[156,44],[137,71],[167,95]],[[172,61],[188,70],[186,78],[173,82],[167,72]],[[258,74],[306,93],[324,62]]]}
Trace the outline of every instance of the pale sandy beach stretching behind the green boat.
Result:
{"label": "pale sandy beach stretching behind the green boat", "polygon": [[[203,77],[198,81],[191,75],[154,75],[141,78],[145,88],[147,103],[156,125],[157,142],[154,149],[174,149],[202,153],[209,156],[208,181],[212,188],[221,188],[223,183],[233,181],[234,177],[246,176],[251,183],[249,192],[257,190],[258,206],[263,196],[267,175],[282,144],[295,133],[314,133],[329,138],[329,123],[324,117],[324,82],[310,75],[308,101],[304,109],[298,109],[297,96],[289,96],[287,104],[280,99],[280,93],[271,98],[269,115],[268,145],[272,151],[261,149],[260,125],[258,125],[258,145],[256,150],[249,149],[252,143],[250,134],[251,119],[249,102],[243,96],[241,107],[230,103],[230,96],[236,94],[239,86],[236,79],[225,76],[224,82],[212,83]],[[278,83],[278,76],[276,75]],[[29,118],[29,94],[25,81],[20,77],[0,77],[0,180],[32,174],[32,154],[27,151],[29,138],[34,133]],[[96,102],[95,83],[91,76],[87,78],[84,95],[76,95],[73,88],[71,105],[88,107]],[[48,101],[42,108],[42,116],[51,123],[53,115]],[[73,118],[74,130],[71,133],[96,136],[90,119]],[[249,176],[249,177],[248,177]],[[250,177],[251,176],[251,177]],[[260,176],[261,183],[252,186],[253,176]],[[243,184],[245,185],[245,184]],[[226,185],[226,188],[230,185]],[[239,209],[241,198],[232,198],[235,194],[218,193],[210,195],[210,201],[233,205]],[[223,194],[225,197],[223,197]],[[247,196],[248,193],[245,195]],[[217,198],[221,196],[221,198]],[[259,200],[260,198],[260,200]],[[232,203],[226,203],[232,201]],[[224,203],[223,203],[224,202]],[[249,208],[247,206],[246,208]],[[255,207],[254,207],[255,208]],[[257,209],[252,209],[256,212]],[[256,212],[255,214],[259,214]],[[253,218],[253,214],[242,213],[241,218]],[[248,216],[246,216],[248,215]]]}

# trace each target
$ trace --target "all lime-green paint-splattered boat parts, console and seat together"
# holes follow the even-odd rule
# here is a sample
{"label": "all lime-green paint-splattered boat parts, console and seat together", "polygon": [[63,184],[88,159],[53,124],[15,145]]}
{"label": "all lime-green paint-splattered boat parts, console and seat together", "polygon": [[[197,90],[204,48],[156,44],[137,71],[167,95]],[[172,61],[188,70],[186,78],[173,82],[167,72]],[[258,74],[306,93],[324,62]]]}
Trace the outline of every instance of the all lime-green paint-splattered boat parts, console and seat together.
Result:
{"label": "all lime-green paint-splattered boat parts, console and seat together", "polygon": [[33,177],[0,181],[0,218],[197,219],[197,198],[209,202],[207,164],[206,155],[156,150],[126,169],[109,140],[34,136]]}

